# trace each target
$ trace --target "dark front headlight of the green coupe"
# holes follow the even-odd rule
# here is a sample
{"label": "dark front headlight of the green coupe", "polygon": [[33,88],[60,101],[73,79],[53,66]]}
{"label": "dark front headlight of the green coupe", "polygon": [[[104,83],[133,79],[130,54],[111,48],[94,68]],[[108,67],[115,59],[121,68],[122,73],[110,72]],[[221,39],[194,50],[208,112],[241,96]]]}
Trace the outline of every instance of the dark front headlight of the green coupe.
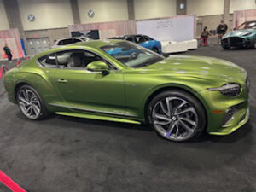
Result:
{"label": "dark front headlight of the green coupe", "polygon": [[241,93],[241,85],[230,83],[224,84],[218,88],[207,88],[209,91],[220,91],[224,96],[238,96]]}

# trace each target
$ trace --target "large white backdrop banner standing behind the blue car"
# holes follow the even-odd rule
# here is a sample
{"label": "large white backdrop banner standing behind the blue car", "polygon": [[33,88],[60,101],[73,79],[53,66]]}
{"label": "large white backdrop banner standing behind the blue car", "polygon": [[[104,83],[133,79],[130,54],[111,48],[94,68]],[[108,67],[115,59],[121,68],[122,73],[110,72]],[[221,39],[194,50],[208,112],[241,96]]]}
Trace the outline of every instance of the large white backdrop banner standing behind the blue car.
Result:
{"label": "large white backdrop banner standing behind the blue car", "polygon": [[167,19],[137,20],[137,34],[159,41],[188,41],[195,38],[195,15]]}

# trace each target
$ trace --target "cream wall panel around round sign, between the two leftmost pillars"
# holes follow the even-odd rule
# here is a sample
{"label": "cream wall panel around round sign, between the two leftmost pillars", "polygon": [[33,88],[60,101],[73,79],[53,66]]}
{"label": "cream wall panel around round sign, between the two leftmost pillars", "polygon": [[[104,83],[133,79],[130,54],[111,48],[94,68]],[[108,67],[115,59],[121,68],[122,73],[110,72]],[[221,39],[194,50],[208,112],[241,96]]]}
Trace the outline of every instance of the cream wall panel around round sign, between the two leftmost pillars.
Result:
{"label": "cream wall panel around round sign, between the two leftmost pillars", "polygon": [[[69,0],[18,0],[24,30],[67,27],[73,24]],[[36,20],[27,20],[29,14]]]}

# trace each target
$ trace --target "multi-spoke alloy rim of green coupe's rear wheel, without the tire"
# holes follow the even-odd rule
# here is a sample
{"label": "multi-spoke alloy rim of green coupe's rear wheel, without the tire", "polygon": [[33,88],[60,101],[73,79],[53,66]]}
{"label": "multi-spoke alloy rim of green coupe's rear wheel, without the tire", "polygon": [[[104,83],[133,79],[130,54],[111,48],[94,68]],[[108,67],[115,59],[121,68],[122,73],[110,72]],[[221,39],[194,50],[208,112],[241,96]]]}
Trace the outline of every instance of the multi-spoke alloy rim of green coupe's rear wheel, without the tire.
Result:
{"label": "multi-spoke alloy rim of green coupe's rear wheel, without the tire", "polygon": [[18,103],[21,112],[28,119],[38,119],[41,114],[41,103],[38,96],[29,89],[22,89],[19,92]]}

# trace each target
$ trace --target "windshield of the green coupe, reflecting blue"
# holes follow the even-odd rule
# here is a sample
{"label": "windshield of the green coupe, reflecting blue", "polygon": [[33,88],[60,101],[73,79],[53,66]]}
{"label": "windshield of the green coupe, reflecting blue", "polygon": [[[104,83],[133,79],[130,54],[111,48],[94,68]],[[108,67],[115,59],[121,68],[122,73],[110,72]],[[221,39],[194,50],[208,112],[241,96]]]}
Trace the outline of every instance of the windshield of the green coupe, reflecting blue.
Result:
{"label": "windshield of the green coupe, reflecting blue", "polygon": [[108,55],[125,64],[127,67],[145,67],[162,61],[165,57],[145,49],[137,44],[121,41],[101,48]]}

